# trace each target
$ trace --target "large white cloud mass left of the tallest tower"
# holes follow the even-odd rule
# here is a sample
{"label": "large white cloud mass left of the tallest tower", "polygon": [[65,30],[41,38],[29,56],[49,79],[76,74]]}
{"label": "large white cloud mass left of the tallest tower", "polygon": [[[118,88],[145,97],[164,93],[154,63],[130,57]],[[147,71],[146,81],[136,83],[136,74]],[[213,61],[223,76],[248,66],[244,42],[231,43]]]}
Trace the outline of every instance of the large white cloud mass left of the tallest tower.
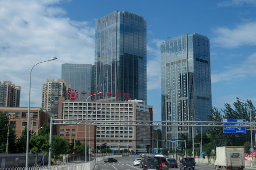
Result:
{"label": "large white cloud mass left of the tallest tower", "polygon": [[31,107],[41,107],[42,84],[61,78],[61,64],[94,63],[94,23],[70,20],[51,4],[61,0],[0,1],[0,81],[21,86],[20,106],[27,107],[29,71]]}

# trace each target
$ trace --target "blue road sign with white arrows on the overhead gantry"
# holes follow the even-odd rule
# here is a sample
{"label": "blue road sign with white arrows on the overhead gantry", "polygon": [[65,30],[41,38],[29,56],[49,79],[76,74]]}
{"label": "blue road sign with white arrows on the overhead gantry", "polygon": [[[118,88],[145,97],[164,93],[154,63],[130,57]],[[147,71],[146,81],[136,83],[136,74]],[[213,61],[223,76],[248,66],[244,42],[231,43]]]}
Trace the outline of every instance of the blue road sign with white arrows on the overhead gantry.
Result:
{"label": "blue road sign with white arrows on the overhead gantry", "polygon": [[223,122],[237,122],[237,123],[224,123],[223,133],[237,133],[237,134],[245,134],[246,127],[228,127],[228,125],[235,126],[244,126],[245,119],[223,119]]}

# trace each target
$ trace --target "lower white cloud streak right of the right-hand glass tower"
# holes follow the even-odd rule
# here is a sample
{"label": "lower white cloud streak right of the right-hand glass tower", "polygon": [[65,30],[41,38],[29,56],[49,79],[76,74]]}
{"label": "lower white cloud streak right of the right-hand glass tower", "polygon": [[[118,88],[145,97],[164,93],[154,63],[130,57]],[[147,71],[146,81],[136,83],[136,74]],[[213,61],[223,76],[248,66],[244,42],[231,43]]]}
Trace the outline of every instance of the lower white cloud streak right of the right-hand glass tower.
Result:
{"label": "lower white cloud streak right of the right-hand glass tower", "polygon": [[245,78],[247,76],[255,77],[256,76],[256,53],[247,57],[242,63],[237,65],[230,65],[226,67],[226,70],[221,72],[212,72],[211,73],[211,83],[217,83],[220,81],[227,81],[237,78]]}

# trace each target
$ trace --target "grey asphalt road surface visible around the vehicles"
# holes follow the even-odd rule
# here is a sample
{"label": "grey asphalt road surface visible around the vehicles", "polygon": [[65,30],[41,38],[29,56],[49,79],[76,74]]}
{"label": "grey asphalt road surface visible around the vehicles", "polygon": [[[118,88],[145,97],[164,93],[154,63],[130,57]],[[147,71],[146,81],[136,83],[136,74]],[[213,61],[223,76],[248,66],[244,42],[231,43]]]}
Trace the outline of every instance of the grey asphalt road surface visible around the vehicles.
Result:
{"label": "grey asphalt road surface visible around the vehicles", "polygon": [[[95,164],[94,170],[143,170],[139,166],[133,166],[133,160],[138,157],[120,157],[115,158],[117,163],[104,163],[103,161]],[[169,170],[179,170],[178,168],[169,168]],[[196,164],[195,170],[215,170],[213,165]],[[255,168],[245,168],[244,170],[256,170]]]}

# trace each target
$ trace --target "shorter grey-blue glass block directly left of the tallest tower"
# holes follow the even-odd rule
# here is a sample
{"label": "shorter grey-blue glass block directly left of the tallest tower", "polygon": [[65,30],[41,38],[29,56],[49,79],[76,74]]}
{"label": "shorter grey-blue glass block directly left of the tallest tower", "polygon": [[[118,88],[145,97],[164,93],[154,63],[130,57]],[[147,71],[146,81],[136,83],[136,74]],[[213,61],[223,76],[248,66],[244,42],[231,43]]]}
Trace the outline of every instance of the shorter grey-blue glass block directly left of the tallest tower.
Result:
{"label": "shorter grey-blue glass block directly left of the tallest tower", "polygon": [[93,91],[93,67],[91,64],[62,64],[61,79],[78,92],[77,99],[86,100],[90,95],[89,92]]}

